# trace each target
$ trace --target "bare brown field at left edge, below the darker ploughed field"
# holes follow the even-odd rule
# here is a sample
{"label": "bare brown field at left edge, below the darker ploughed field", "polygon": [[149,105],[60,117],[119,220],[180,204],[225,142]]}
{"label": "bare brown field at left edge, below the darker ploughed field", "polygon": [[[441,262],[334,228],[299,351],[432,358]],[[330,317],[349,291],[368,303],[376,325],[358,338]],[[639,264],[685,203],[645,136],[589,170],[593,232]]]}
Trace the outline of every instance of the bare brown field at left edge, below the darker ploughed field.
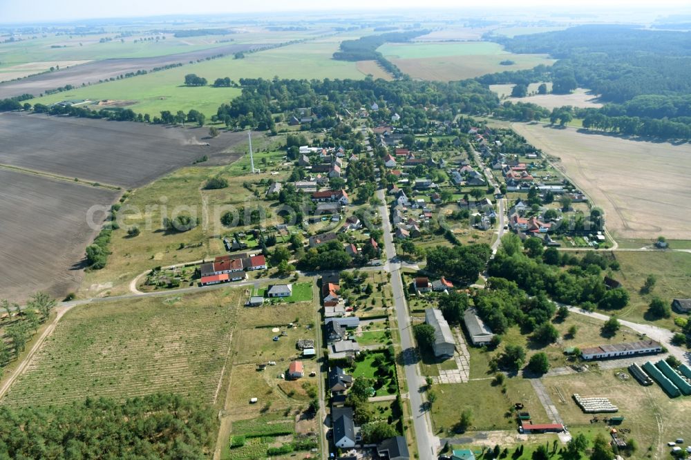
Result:
{"label": "bare brown field at left edge, below the darker ploughed field", "polygon": [[[0,297],[34,291],[64,296],[82,279],[79,262],[96,233],[86,212],[109,206],[117,192],[0,169]],[[94,215],[100,222],[104,213]]]}

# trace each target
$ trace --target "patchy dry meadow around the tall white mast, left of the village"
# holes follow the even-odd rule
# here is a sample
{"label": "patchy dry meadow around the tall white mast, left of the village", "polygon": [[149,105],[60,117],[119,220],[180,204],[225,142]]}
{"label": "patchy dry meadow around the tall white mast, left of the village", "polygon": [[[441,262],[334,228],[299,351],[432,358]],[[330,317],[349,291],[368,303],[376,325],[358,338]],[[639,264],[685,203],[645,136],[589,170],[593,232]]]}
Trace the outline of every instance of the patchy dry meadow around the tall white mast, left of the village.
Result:
{"label": "patchy dry meadow around the tall white mast, left of the village", "polygon": [[[244,134],[246,136],[246,134]],[[245,137],[246,139],[246,137]],[[126,201],[131,211],[122,213],[122,227],[113,231],[113,238],[108,245],[111,251],[108,263],[104,269],[90,271],[79,292],[83,296],[102,296],[124,294],[129,291],[129,282],[143,271],[154,267],[193,262],[203,258],[220,256],[225,253],[220,235],[231,235],[234,231],[249,229],[247,227],[223,227],[220,216],[234,207],[240,209],[249,204],[260,204],[272,211],[270,204],[259,200],[245,188],[256,184],[260,180],[281,181],[286,171],[281,166],[284,153],[265,148],[273,148],[272,142],[279,142],[278,137],[256,137],[252,144],[256,149],[254,161],[261,165],[262,173],[249,178],[249,158],[242,157],[231,164],[219,166],[196,166],[179,169],[164,178],[156,180],[141,189],[133,191]],[[237,149],[244,151],[246,143]],[[266,165],[262,159],[267,158]],[[232,160],[233,157],[229,157]],[[210,159],[208,163],[227,163],[222,157]],[[278,175],[272,175],[272,172]],[[229,186],[225,189],[205,190],[205,182],[221,174],[228,179]],[[256,186],[259,196],[263,197],[265,186]],[[275,203],[275,202],[274,202]],[[165,207],[162,208],[162,205]],[[170,217],[173,209],[179,206],[188,207],[187,213],[200,218],[200,224],[182,233],[166,232],[162,230],[161,221]],[[148,211],[147,211],[148,209]],[[139,211],[139,213],[135,212]],[[238,211],[239,212],[239,211]],[[147,224],[151,222],[151,225]],[[267,218],[267,225],[283,222],[275,213]],[[126,227],[137,226],[141,233],[131,238],[127,235]],[[182,245],[182,249],[181,249]]]}

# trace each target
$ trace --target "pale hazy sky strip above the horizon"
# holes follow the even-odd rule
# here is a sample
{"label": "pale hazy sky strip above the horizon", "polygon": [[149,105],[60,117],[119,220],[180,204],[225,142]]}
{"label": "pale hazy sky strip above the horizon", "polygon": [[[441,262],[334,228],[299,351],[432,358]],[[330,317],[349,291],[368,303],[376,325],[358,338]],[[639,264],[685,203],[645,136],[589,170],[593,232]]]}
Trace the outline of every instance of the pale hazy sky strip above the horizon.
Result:
{"label": "pale hazy sky strip above the horizon", "polygon": [[689,10],[688,0],[0,0],[0,23],[62,21],[69,19],[136,17],[234,12],[281,12],[286,10],[386,10],[401,8],[460,8],[481,12],[481,8],[511,6],[540,7],[549,12],[555,5],[574,10],[632,7],[680,8]]}

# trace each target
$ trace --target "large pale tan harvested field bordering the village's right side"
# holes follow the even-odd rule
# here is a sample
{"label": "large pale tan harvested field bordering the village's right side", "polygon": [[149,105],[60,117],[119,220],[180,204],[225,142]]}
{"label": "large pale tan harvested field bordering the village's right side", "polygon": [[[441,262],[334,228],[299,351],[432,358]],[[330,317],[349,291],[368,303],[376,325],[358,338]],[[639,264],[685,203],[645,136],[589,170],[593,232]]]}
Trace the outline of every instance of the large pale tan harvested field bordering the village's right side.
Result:
{"label": "large pale tan harvested field bordering the village's right side", "polygon": [[512,124],[545,153],[607,216],[614,238],[685,239],[691,213],[691,145],[627,140],[574,128]]}

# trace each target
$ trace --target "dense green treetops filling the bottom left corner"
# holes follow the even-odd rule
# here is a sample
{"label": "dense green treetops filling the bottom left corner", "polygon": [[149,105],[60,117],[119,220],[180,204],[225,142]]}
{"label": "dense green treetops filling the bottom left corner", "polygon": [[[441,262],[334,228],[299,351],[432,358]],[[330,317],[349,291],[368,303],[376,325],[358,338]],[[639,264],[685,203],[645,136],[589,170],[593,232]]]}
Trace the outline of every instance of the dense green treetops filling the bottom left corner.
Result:
{"label": "dense green treetops filling the bottom left corner", "polygon": [[211,408],[172,394],[0,406],[0,457],[8,459],[205,459],[217,432]]}

